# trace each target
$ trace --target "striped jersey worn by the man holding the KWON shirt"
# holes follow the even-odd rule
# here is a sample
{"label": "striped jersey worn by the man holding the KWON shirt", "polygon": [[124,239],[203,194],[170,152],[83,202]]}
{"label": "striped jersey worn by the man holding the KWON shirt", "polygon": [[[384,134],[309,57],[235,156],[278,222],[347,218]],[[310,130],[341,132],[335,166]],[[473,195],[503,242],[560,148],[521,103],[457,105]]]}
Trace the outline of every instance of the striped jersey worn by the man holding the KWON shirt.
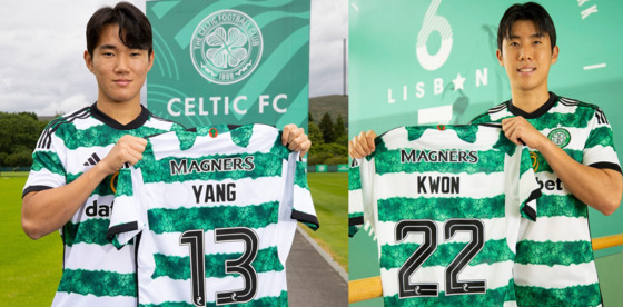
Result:
{"label": "striped jersey worn by the man holding the KWON shirt", "polygon": [[[491,108],[474,122],[522,116],[574,160],[621,171],[612,129],[594,105],[550,93],[533,113],[511,101]],[[589,208],[575,198],[536,151],[531,150],[543,197],[538,220],[526,226],[517,246],[517,301],[523,306],[597,306],[601,293],[593,260]]]}

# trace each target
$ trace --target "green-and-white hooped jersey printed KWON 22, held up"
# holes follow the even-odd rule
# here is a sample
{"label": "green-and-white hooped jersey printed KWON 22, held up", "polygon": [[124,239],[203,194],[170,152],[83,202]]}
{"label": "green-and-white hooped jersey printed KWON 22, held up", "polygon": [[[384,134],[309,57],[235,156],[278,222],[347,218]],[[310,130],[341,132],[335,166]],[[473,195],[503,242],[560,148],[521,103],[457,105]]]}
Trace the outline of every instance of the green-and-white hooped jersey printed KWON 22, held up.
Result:
{"label": "green-and-white hooped jersey printed KWON 22, held up", "polygon": [[476,125],[375,141],[355,166],[350,230],[375,234],[385,306],[515,306],[520,219],[534,220],[540,196],[527,149]]}

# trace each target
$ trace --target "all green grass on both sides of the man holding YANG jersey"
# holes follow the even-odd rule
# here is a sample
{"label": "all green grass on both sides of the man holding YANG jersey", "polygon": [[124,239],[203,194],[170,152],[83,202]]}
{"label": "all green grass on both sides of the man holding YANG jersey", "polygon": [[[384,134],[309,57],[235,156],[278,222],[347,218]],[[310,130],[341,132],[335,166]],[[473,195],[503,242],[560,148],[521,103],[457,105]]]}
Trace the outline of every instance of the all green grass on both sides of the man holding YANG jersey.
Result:
{"label": "all green grass on both sides of the man holding YANG jersey", "polygon": [[[21,190],[27,175],[0,174],[0,224],[4,229],[0,232],[0,306],[50,306],[61,276],[60,235],[34,241],[21,229]],[[309,187],[320,229],[308,232],[346,269],[348,174],[309,174]]]}

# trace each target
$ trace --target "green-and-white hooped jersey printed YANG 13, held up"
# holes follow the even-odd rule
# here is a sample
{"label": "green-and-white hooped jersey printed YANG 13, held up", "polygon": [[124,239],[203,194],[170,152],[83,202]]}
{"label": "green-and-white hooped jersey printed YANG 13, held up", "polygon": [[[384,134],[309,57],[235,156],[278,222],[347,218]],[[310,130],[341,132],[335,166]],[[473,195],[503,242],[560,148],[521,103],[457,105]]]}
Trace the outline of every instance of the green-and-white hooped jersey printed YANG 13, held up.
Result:
{"label": "green-and-white hooped jersey printed YANG 13, held up", "polygon": [[318,228],[279,130],[199,127],[148,139],[119,176],[110,239],[137,242],[140,306],[286,306],[297,220]]}

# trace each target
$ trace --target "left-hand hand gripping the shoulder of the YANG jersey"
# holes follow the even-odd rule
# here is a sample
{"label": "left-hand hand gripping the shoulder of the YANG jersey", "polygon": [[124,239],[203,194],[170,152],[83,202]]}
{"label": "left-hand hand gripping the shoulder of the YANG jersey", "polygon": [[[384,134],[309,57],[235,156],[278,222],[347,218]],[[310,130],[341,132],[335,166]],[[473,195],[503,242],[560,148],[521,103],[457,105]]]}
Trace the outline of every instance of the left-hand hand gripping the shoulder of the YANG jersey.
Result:
{"label": "left-hand hand gripping the shoulder of the YANG jersey", "polygon": [[119,171],[126,162],[134,166],[140,161],[146,146],[146,139],[126,135],[117,141],[115,147],[110,149],[110,152],[108,152],[99,165],[108,175],[115,174]]}

